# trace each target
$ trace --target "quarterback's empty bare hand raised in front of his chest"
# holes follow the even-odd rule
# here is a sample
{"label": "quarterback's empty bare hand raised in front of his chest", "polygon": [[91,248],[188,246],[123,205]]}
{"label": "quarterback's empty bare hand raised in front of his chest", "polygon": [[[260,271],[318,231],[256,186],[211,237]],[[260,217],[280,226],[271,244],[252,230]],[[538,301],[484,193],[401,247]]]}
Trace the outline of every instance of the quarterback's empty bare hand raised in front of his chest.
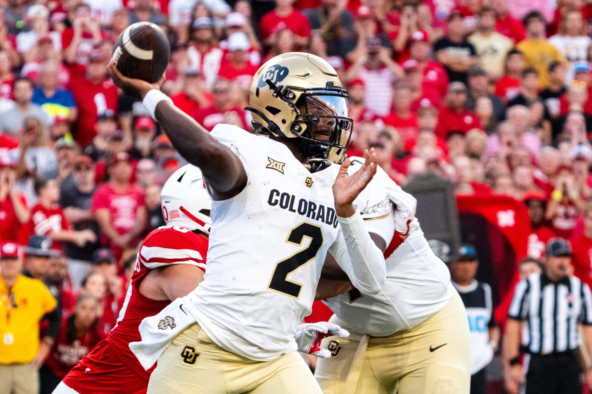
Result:
{"label": "quarterback's empty bare hand raised in front of his chest", "polygon": [[364,165],[352,175],[348,175],[349,159],[346,159],[341,164],[337,178],[333,183],[335,212],[339,217],[349,218],[355,214],[356,210],[353,208],[353,201],[370,183],[376,173],[378,164],[374,148],[371,148],[370,151],[367,149],[364,151],[364,159],[366,159]]}

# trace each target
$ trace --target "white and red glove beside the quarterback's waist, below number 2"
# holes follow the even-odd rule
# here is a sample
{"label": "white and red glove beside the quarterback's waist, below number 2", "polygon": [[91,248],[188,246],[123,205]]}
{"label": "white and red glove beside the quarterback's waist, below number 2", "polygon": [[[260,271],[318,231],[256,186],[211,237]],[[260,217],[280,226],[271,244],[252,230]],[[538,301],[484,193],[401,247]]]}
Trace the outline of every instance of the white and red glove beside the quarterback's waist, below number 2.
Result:
{"label": "white and red glove beside the quarterback's waist, below number 2", "polygon": [[349,337],[349,332],[337,324],[331,324],[326,321],[304,323],[296,329],[294,339],[298,344],[298,351],[321,357],[321,359],[329,359],[331,352],[321,348],[321,341],[324,338],[333,337],[333,335],[337,335],[340,338],[347,338]]}

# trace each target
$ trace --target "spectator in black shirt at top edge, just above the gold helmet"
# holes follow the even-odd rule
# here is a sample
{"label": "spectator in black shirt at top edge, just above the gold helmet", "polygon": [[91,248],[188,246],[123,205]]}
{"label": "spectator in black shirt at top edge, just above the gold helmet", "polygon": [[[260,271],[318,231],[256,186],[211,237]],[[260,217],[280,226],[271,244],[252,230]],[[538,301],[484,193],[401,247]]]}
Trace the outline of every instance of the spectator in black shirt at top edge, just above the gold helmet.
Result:
{"label": "spectator in black shirt at top edge, just above the gold helmet", "polygon": [[329,56],[345,58],[353,49],[353,15],[343,0],[321,0],[320,7],[305,9],[304,15],[313,30],[320,29]]}

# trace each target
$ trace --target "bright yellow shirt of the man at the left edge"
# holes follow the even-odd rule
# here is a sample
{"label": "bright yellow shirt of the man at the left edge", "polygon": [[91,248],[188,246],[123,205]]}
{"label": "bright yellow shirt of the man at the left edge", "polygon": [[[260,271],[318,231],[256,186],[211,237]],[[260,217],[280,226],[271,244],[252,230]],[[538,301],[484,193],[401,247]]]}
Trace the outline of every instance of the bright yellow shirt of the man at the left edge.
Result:
{"label": "bright yellow shirt of the man at the left edge", "polygon": [[39,321],[56,305],[41,280],[19,275],[8,289],[0,278],[0,364],[34,359],[39,349]]}

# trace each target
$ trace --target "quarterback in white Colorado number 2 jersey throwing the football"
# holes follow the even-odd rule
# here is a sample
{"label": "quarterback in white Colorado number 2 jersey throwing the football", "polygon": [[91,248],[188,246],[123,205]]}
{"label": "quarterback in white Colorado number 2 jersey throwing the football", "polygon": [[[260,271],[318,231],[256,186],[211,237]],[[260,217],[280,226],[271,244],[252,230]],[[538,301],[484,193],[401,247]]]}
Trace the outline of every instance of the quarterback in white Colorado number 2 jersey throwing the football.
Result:
{"label": "quarterback in white Colorado number 2 jersey throwing the football", "polygon": [[349,162],[314,160],[345,148],[350,134],[349,96],[335,70],[305,53],[260,67],[248,109],[269,138],[225,124],[208,134],[159,84],[124,77],[112,63],[108,70],[200,167],[213,199],[204,281],[161,312],[178,317],[170,330],[156,329],[174,336],[168,346],[146,337],[162,353],[148,392],[320,394],[294,336],[310,314],[327,251],[361,293],[378,293],[385,280],[382,251],[353,205],[365,198],[375,154],[366,152],[351,176]]}

